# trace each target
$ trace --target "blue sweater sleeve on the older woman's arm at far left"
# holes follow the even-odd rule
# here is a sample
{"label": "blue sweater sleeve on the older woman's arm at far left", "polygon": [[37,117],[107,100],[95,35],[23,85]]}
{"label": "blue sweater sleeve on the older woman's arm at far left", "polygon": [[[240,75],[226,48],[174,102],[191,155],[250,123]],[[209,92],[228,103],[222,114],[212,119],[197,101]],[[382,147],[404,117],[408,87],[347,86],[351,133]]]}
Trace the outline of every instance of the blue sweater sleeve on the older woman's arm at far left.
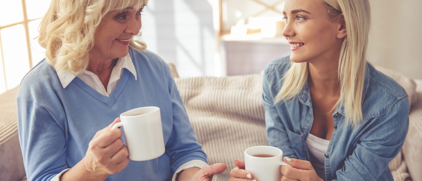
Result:
{"label": "blue sweater sleeve on the older woman's arm at far left", "polygon": [[30,181],[50,180],[67,169],[64,128],[34,100],[18,97],[19,142]]}

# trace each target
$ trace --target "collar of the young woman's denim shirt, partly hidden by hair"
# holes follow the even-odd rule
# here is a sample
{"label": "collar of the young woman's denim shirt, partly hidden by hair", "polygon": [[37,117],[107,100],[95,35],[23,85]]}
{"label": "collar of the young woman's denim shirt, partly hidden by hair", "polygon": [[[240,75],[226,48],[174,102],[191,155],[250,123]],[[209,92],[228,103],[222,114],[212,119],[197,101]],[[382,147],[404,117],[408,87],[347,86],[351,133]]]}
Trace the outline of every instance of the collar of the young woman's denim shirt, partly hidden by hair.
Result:
{"label": "collar of the young woman's denim shirt, partly hidden by hair", "polygon": [[[362,90],[361,104],[363,104],[363,100],[365,99],[366,92],[368,91],[368,85],[369,85],[369,67],[368,67],[368,64],[365,63],[365,80],[363,82],[363,90]],[[309,107],[312,107],[311,92],[309,91],[308,81],[306,81],[305,82],[305,85],[303,85],[303,88],[300,91],[298,97],[299,97],[300,103],[305,104],[305,105],[307,105]],[[337,106],[337,108],[333,112],[333,115],[335,115],[337,113],[344,116],[344,105],[342,103],[340,103]]]}

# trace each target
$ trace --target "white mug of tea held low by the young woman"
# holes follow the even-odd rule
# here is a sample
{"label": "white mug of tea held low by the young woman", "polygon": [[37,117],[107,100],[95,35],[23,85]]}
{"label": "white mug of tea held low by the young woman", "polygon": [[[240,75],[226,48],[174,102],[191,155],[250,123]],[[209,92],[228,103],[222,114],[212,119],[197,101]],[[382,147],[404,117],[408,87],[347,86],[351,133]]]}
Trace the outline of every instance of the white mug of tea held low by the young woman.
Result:
{"label": "white mug of tea held low by the young woman", "polygon": [[[268,157],[262,157],[262,156]],[[252,146],[245,150],[245,170],[251,172],[258,181],[280,181],[283,151],[273,146]]]}

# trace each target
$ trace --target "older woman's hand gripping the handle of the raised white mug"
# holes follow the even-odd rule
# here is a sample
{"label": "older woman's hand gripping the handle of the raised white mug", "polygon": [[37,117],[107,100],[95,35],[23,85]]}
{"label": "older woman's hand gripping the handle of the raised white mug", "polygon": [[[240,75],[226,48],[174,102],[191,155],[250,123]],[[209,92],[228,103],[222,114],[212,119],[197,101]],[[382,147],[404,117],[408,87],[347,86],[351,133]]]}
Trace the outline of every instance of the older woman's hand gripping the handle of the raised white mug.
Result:
{"label": "older woman's hand gripping the handle of the raised white mug", "polygon": [[89,173],[97,176],[108,176],[119,173],[129,163],[128,150],[123,144],[122,130],[111,127],[120,122],[116,118],[113,123],[98,131],[89,142],[87,153],[82,159]]}

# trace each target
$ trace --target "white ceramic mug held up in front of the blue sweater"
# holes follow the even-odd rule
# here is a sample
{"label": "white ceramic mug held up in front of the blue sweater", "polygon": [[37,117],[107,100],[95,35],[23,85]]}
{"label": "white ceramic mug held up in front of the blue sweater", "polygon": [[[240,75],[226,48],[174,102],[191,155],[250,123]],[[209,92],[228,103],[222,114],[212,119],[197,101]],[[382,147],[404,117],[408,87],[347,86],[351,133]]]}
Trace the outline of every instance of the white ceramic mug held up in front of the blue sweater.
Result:
{"label": "white ceramic mug held up in front of the blue sweater", "polygon": [[139,107],[120,114],[120,122],[111,129],[123,126],[129,159],[155,159],[165,152],[159,107]]}

